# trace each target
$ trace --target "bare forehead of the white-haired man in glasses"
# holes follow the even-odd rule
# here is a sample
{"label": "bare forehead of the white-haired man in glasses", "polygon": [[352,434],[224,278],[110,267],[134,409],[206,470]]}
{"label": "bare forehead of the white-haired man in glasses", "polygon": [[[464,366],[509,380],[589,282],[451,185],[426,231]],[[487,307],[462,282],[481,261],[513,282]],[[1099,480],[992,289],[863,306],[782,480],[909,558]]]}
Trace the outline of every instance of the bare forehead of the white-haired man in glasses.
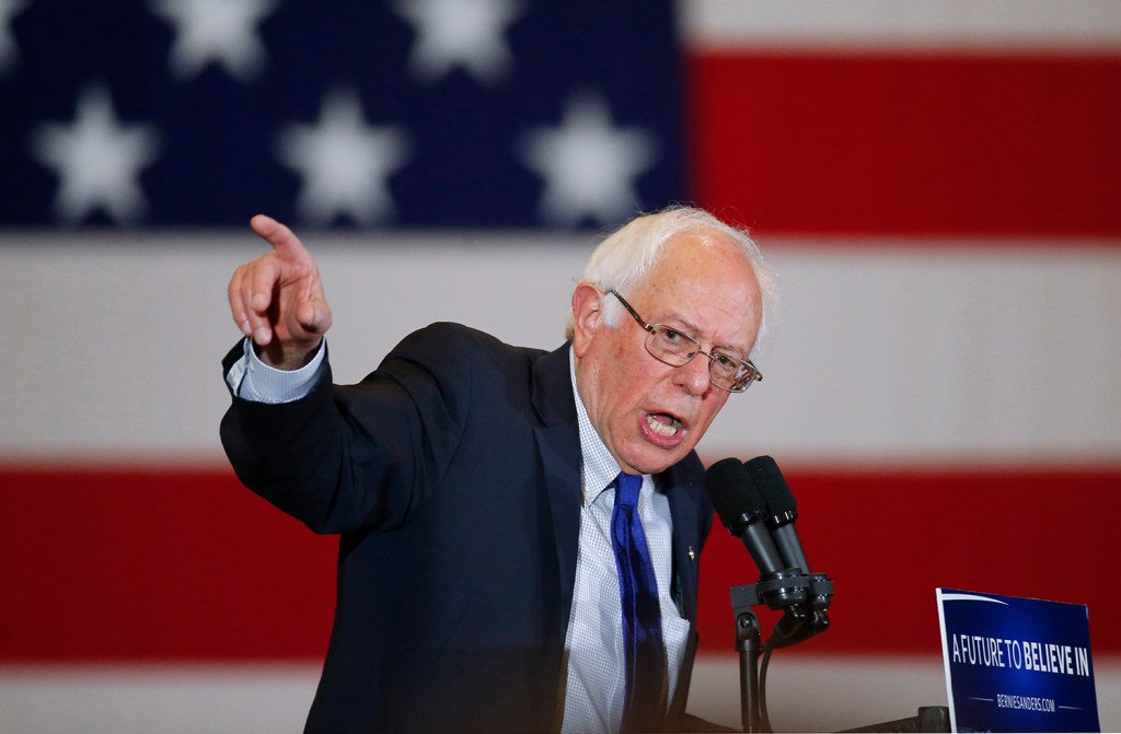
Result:
{"label": "bare forehead of the white-haired man in glasses", "polygon": [[703,340],[750,349],[762,299],[747,254],[726,234],[680,232],[634,295],[648,320],[687,326]]}

